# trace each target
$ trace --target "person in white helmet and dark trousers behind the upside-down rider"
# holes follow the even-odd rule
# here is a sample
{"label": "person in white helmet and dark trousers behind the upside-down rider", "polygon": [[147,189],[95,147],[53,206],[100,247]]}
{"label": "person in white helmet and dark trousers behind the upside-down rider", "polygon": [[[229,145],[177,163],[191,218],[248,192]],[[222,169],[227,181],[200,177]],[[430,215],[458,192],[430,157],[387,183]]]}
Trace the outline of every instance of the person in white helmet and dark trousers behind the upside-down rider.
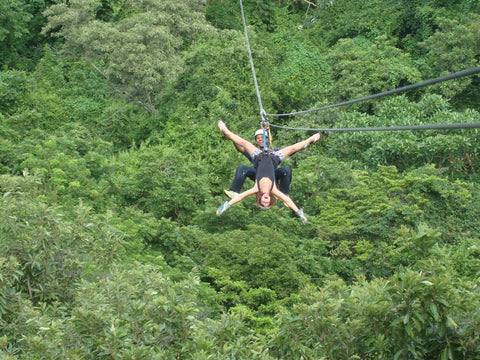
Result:
{"label": "person in white helmet and dark trousers behind the upside-down rider", "polygon": [[[268,143],[268,133],[264,134],[263,129],[258,129],[255,131],[255,143],[258,145],[260,149],[264,148],[264,141],[267,140]],[[267,144],[268,145],[268,144]],[[245,157],[252,163],[253,159],[250,154],[245,151],[243,146],[236,145],[235,147],[239,152],[241,152]],[[275,148],[274,150],[278,151],[279,148]],[[229,190],[224,190],[225,195],[227,195],[230,199],[233,199],[237,196],[241,190],[245,179],[248,177],[252,181],[255,181],[256,170],[253,166],[247,165],[239,165],[237,170],[235,171],[235,176],[233,178],[232,184],[230,185]],[[290,194],[290,184],[292,183],[292,169],[289,166],[282,166],[275,168],[275,181],[278,185],[278,189],[283,192],[285,195]]]}

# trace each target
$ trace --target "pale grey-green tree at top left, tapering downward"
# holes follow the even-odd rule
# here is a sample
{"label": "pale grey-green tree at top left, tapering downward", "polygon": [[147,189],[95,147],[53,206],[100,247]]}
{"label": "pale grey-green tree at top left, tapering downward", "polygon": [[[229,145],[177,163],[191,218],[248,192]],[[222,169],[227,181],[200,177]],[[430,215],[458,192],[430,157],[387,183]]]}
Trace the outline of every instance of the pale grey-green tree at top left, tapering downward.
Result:
{"label": "pale grey-green tree at top left, tapering downward", "polygon": [[108,79],[112,91],[156,114],[161,91],[183,71],[182,50],[207,32],[203,1],[129,0],[118,20],[99,20],[100,0],[74,0],[45,11],[44,33]]}

